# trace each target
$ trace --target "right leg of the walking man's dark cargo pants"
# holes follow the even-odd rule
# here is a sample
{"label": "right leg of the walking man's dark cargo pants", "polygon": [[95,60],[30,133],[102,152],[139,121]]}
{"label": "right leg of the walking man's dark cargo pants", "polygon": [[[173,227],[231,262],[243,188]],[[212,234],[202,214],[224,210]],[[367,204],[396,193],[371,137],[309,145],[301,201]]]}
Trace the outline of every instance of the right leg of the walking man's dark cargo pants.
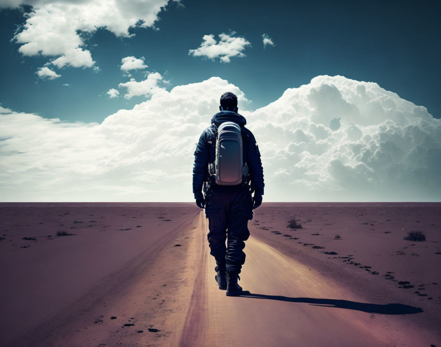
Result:
{"label": "right leg of the walking man's dark cargo pants", "polygon": [[252,196],[249,189],[241,188],[231,197],[228,213],[228,240],[226,268],[234,268],[239,273],[245,263],[245,242],[250,237],[248,221],[252,219]]}

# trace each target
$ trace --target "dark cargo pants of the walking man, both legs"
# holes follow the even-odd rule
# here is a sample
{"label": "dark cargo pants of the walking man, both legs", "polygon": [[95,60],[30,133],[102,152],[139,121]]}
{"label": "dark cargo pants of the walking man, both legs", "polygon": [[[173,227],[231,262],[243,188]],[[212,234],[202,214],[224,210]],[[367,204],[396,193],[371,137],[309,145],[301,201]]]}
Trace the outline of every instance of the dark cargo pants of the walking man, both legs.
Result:
{"label": "dark cargo pants of the walking man, both legs", "polygon": [[244,241],[250,237],[248,221],[253,215],[250,189],[248,186],[214,186],[206,198],[210,254],[217,262],[225,261],[227,269],[240,273],[245,263]]}

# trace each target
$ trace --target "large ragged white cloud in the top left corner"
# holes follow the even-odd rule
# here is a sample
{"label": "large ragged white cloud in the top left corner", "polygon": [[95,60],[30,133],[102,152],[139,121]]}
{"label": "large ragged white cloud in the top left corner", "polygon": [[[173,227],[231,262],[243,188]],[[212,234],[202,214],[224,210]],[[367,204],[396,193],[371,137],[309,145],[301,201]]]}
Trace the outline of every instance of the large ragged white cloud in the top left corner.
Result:
{"label": "large ragged white cloud in the top left corner", "polygon": [[130,37],[131,27],[152,27],[168,0],[9,0],[3,7],[33,6],[23,30],[15,36],[25,56],[57,57],[52,64],[61,68],[93,67],[83,34],[106,28],[119,37]]}

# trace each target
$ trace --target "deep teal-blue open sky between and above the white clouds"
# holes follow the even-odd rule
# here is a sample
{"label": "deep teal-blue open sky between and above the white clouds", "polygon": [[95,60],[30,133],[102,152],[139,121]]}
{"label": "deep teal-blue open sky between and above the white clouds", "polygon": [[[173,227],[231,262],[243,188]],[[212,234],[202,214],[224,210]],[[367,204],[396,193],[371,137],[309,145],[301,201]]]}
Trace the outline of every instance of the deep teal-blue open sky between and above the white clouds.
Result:
{"label": "deep teal-blue open sky between and above the white clouds", "polygon": [[[149,72],[159,72],[174,86],[219,76],[240,86],[250,109],[277,100],[287,88],[307,84],[317,75],[343,75],[377,82],[401,98],[441,116],[438,96],[440,21],[436,1],[190,1],[169,3],[158,13],[155,30],[130,29],[116,37],[99,29],[85,38],[95,66],[56,69],[61,77],[38,78],[36,71],[53,56],[24,56],[12,38],[26,21],[24,9],[0,11],[2,46],[0,103],[47,118],[101,122],[121,108],[149,98],[106,92],[129,80],[120,69],[126,56],[145,57]],[[245,57],[229,63],[189,55],[204,35],[236,32],[251,45]],[[263,47],[262,34],[275,45]],[[85,35],[86,36],[86,35]],[[136,80],[144,71],[132,71]],[[69,86],[63,86],[69,84]],[[121,90],[120,90],[121,91]],[[123,92],[121,92],[123,94]]]}

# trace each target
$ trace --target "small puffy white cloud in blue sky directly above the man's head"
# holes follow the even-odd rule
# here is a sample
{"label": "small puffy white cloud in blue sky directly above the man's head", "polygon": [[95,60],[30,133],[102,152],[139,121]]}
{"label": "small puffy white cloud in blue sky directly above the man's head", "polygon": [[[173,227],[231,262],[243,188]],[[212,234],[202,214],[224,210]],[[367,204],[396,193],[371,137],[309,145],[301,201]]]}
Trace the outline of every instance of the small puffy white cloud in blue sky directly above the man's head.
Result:
{"label": "small puffy white cloud in blue sky directly above the man's head", "polygon": [[244,37],[233,37],[236,33],[231,35],[220,34],[220,41],[217,42],[214,35],[204,35],[204,40],[199,48],[190,49],[189,55],[195,57],[207,57],[215,60],[219,58],[221,62],[229,63],[231,57],[245,57],[243,51],[246,46],[251,46],[251,43]]}

